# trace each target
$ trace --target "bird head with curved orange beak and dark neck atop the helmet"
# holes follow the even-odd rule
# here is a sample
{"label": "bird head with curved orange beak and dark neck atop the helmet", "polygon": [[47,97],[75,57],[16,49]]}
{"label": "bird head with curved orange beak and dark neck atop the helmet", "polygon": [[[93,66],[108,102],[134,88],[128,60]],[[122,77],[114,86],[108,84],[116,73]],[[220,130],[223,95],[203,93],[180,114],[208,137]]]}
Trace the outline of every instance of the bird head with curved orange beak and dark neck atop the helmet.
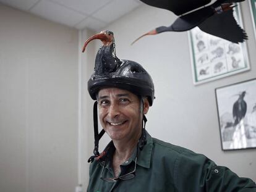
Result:
{"label": "bird head with curved orange beak and dark neck atop the helmet", "polygon": [[116,71],[121,61],[116,57],[114,33],[112,31],[101,31],[98,34],[90,36],[85,41],[82,52],[85,51],[87,44],[92,40],[101,40],[103,45],[98,50],[95,58],[95,74],[111,73]]}

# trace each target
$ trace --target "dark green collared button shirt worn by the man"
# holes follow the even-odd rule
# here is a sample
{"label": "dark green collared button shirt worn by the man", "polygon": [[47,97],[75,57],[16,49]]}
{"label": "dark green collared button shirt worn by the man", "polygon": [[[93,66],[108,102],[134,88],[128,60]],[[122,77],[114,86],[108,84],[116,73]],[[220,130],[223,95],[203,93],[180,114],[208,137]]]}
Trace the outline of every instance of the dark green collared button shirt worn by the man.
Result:
{"label": "dark green collared button shirt worn by the man", "polygon": [[[255,183],[249,178],[241,178],[227,167],[217,166],[213,161],[170,143],[151,138],[147,133],[147,144],[138,149],[135,177],[130,180],[118,180],[108,183],[100,179],[103,164],[103,178],[114,177],[111,157],[113,143],[104,161],[93,161],[90,165],[88,192],[157,192],[157,191],[254,191]],[[130,159],[121,165],[121,174],[134,170],[137,148]]]}

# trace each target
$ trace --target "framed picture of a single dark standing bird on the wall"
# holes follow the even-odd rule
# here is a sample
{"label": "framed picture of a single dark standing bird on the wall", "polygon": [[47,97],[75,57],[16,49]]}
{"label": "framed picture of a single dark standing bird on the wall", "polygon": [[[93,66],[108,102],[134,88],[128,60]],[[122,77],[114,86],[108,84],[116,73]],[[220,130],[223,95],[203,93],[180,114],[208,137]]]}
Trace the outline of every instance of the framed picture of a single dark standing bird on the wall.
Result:
{"label": "framed picture of a single dark standing bird on the wall", "polygon": [[215,89],[223,150],[256,148],[256,78]]}

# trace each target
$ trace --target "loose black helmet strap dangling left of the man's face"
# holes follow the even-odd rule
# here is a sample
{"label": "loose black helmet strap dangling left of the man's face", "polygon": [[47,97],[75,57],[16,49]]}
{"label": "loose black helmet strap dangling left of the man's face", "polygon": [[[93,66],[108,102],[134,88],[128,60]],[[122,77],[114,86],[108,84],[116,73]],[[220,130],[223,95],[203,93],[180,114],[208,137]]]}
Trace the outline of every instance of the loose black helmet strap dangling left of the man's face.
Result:
{"label": "loose black helmet strap dangling left of the man's face", "polygon": [[100,134],[98,132],[98,111],[97,111],[97,106],[98,102],[95,101],[93,104],[93,128],[94,128],[94,149],[93,149],[93,154],[94,156],[91,156],[88,159],[88,162],[93,162],[95,157],[100,156],[100,152],[99,152],[99,141],[100,138],[103,136],[103,134],[105,133],[105,130],[101,130]]}

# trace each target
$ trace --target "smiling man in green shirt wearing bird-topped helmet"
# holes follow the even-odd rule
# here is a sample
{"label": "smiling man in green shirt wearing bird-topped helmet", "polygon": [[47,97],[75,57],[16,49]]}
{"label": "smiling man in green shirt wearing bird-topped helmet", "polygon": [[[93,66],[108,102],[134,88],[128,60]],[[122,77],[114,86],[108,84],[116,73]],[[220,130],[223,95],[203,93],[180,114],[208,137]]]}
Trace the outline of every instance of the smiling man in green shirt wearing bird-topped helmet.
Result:
{"label": "smiling man in green shirt wearing bird-topped helmet", "polygon": [[[95,155],[89,159],[87,191],[256,191],[252,180],[239,178],[202,154],[151,138],[145,131],[145,114],[155,98],[150,75],[140,64],[119,60],[109,52],[114,62],[100,60],[102,52],[114,52],[114,46],[106,43],[113,41],[113,33],[102,31],[85,46],[94,38],[103,41],[95,66],[104,70],[95,71],[88,81],[90,96],[97,101]],[[112,140],[101,154],[98,141],[104,131],[98,133],[97,105],[100,123]]]}

